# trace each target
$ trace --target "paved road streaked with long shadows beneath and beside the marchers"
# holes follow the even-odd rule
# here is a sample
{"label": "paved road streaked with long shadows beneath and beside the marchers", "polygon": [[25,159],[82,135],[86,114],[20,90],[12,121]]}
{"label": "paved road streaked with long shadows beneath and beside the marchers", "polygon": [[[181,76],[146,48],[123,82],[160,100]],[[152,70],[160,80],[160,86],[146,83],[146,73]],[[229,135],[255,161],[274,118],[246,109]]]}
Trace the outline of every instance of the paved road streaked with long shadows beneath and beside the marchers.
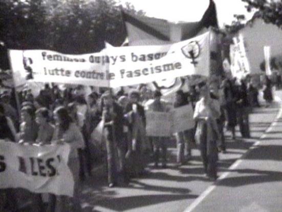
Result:
{"label": "paved road streaked with long shadows beneath and beside the marchers", "polygon": [[[219,155],[219,175],[226,175],[228,168],[261,138],[275,119],[278,109],[279,104],[274,103],[269,108],[256,108],[253,111],[250,115],[252,139],[243,140],[237,132],[238,139],[233,141],[230,140],[230,133],[226,133],[227,153]],[[187,166],[175,167],[175,144],[170,144],[171,163],[168,169],[156,170],[148,166],[149,174],[146,177],[134,179],[126,187],[110,189],[106,186],[105,170],[97,171],[92,179],[84,183],[83,211],[184,211],[188,206],[196,205],[194,203],[202,197],[201,194],[207,193],[207,189],[210,190],[210,186],[213,187],[212,191],[194,208],[194,211],[240,211],[241,206],[242,211],[264,211],[260,209],[266,206],[260,203],[267,198],[269,190],[273,190],[273,197],[276,196],[276,199],[265,203],[266,205],[273,204],[278,197],[282,202],[282,189],[280,189],[281,194],[273,189],[278,187],[279,178],[282,179],[282,173],[275,170],[281,157],[279,158],[278,154],[274,160],[270,157],[273,151],[282,152],[282,147],[278,145],[281,136],[279,133],[273,135],[276,137],[273,137],[271,143],[268,139],[266,143],[267,137],[261,139],[262,143],[256,147],[256,151],[252,150],[247,154],[248,158],[246,157],[240,166],[233,169],[231,174],[216,185],[204,176],[197,149],[192,151],[194,157]],[[267,136],[270,134],[268,133]],[[269,169],[264,169],[264,166],[269,166]],[[280,166],[280,170],[281,168]],[[272,184],[268,187],[265,182]],[[248,192],[256,195],[251,196]],[[256,200],[255,197],[259,199]]]}

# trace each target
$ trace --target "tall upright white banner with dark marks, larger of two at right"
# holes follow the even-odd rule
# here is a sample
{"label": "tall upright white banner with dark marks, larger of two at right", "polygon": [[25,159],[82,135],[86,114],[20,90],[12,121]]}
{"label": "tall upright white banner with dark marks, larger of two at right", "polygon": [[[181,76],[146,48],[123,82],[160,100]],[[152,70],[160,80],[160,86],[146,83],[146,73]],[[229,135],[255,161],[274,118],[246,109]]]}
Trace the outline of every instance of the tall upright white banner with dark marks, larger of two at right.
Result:
{"label": "tall upright white banner with dark marks, larger of two at right", "polygon": [[233,77],[242,79],[250,74],[250,65],[246,55],[243,35],[240,34],[234,37],[233,43],[230,45],[231,73]]}

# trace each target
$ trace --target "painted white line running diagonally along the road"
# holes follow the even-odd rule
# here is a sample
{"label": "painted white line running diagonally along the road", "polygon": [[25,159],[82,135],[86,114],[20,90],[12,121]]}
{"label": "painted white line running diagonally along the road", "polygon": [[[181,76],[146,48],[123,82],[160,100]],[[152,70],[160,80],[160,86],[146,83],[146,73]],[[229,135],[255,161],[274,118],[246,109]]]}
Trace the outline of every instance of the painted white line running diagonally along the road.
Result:
{"label": "painted white line running diagonally along the road", "polygon": [[[269,133],[272,128],[274,126],[277,125],[277,121],[282,117],[282,103],[281,103],[281,99],[279,97],[277,97],[277,101],[280,103],[280,108],[279,108],[279,112],[276,115],[274,121],[271,123],[271,125],[267,128],[267,130],[264,132],[264,134],[259,137],[259,140],[266,138],[267,133]],[[256,148],[259,144],[261,144],[261,141],[256,141],[250,148],[250,149],[254,149]],[[232,165],[231,167],[228,168],[228,170],[234,170],[235,168],[237,168],[240,163],[242,163],[243,159],[248,155],[249,150],[241,156],[240,159],[237,159]],[[226,171],[224,173],[222,173],[222,175],[212,184],[210,185],[196,200],[194,200],[192,202],[192,204],[190,204],[185,210],[184,212],[191,212],[193,209],[195,209],[216,187],[216,184],[219,183],[220,180],[223,180],[224,178],[226,178],[231,172],[230,171]]]}

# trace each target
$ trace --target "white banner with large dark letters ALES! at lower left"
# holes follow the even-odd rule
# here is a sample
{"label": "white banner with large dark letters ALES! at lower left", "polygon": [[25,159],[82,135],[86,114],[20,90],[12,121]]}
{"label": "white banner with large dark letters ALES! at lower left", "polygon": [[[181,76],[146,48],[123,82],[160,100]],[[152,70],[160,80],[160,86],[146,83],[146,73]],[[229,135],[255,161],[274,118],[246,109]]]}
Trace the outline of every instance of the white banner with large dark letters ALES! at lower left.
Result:
{"label": "white banner with large dark letters ALES! at lower left", "polygon": [[20,145],[0,140],[0,188],[73,196],[69,145]]}

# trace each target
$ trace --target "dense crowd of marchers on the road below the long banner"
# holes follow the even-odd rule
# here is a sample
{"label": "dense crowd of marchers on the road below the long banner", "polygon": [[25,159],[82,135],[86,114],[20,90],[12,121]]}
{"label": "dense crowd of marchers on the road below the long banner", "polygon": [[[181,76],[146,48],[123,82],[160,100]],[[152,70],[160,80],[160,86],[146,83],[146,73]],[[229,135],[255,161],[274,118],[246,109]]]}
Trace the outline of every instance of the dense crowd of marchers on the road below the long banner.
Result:
{"label": "dense crowd of marchers on the road below the long banner", "polygon": [[[273,100],[272,83],[266,78],[264,98]],[[4,92],[0,103],[0,138],[19,144],[64,144],[71,146],[68,166],[75,180],[74,198],[71,202],[79,211],[79,183],[91,176],[97,162],[106,158],[110,187],[124,185],[131,178],[146,174],[151,161],[154,168],[167,168],[167,143],[173,136],[177,146],[177,166],[182,166],[193,155],[191,149],[198,144],[204,170],[212,180],[217,178],[218,153],[226,151],[225,131],[236,139],[238,125],[242,137],[249,138],[249,113],[259,107],[258,89],[250,77],[201,82],[178,90],[175,101],[162,100],[160,90],[151,90],[145,84],[126,92],[93,91],[85,96],[81,86],[59,89],[56,84],[45,84],[34,97],[31,90],[18,93],[19,114],[14,92]],[[171,137],[146,136],[145,111],[167,112],[191,104],[196,126],[175,133]],[[161,127],[161,126],[158,126]],[[99,131],[103,136],[98,138]],[[103,140],[103,141],[102,141]],[[40,195],[36,195],[40,202]],[[66,197],[49,195],[48,211],[54,211],[56,202],[61,205]],[[43,207],[39,206],[42,211]],[[60,210],[62,211],[62,210]]]}

